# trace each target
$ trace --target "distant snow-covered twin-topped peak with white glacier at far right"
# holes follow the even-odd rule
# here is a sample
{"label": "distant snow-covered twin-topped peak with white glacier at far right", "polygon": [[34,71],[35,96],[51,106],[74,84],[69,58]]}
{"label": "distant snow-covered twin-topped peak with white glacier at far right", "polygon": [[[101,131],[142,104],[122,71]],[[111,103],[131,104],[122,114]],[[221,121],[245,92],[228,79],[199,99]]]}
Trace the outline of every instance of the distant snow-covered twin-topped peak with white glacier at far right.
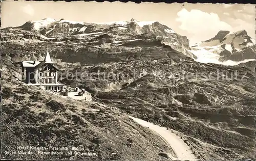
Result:
{"label": "distant snow-covered twin-topped peak with white glacier at far right", "polygon": [[235,33],[220,31],[214,38],[193,45],[191,51],[200,62],[237,65],[236,62],[255,60],[255,39],[245,30]]}

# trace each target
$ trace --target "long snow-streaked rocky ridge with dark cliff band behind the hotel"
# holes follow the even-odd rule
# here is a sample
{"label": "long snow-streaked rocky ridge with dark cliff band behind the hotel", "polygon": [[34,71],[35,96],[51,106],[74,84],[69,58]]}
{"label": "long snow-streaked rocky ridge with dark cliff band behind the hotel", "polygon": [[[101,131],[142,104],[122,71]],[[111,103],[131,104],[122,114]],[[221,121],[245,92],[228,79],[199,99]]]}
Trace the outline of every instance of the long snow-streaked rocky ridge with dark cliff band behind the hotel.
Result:
{"label": "long snow-streaked rocky ridge with dark cliff band behind the hotel", "polygon": [[[48,45],[53,58],[64,62],[152,60],[168,58],[172,51],[195,57],[189,51],[189,41],[185,36],[159,22],[139,22],[132,19],[109,24],[90,24],[48,18],[28,21],[16,28],[2,29],[1,32],[4,50],[6,44],[15,44],[16,47],[31,48],[26,50],[33,53]],[[70,59],[71,55],[75,58]],[[19,58],[31,59],[32,56],[33,54],[26,53],[25,57]]]}

